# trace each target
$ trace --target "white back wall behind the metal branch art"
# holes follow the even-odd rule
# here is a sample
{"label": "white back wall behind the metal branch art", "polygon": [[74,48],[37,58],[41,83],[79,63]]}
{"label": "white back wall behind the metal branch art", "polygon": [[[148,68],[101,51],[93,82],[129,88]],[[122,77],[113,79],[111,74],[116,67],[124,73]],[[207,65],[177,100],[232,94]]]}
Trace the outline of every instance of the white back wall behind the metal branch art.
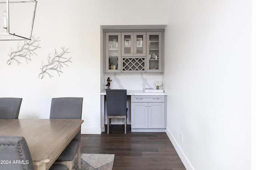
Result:
{"label": "white back wall behind the metal branch art", "polygon": [[[19,118],[49,118],[51,98],[83,97],[82,133],[100,129],[100,25],[166,25],[167,0],[38,0],[33,34],[40,37],[38,56],[7,65],[18,41],[0,41],[0,97],[23,98]],[[41,62],[60,47],[72,63],[58,76],[38,78]],[[139,84],[140,86],[140,84]]]}

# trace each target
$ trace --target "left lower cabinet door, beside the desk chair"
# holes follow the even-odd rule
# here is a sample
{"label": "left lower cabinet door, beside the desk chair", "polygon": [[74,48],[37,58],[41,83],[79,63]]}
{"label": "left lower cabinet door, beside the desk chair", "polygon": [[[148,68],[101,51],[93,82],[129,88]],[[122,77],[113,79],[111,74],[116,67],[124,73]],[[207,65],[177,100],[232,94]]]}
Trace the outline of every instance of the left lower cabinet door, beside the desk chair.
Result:
{"label": "left lower cabinet door, beside the desk chair", "polygon": [[148,129],[148,103],[131,103],[132,129]]}

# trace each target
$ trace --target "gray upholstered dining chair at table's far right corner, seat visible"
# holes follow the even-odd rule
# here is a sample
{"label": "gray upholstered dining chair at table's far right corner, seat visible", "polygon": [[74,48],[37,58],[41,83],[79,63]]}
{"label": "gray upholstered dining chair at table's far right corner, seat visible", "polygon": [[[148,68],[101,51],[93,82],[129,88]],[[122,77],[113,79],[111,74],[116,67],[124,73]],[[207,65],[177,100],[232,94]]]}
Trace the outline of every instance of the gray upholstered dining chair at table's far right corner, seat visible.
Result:
{"label": "gray upholstered dining chair at table's far right corner, seat visible", "polygon": [[[52,98],[50,119],[81,119],[83,98]],[[71,170],[74,158],[78,154],[78,169],[81,169],[80,150],[81,130],[68,144],[56,160],[56,164],[65,164]]]}

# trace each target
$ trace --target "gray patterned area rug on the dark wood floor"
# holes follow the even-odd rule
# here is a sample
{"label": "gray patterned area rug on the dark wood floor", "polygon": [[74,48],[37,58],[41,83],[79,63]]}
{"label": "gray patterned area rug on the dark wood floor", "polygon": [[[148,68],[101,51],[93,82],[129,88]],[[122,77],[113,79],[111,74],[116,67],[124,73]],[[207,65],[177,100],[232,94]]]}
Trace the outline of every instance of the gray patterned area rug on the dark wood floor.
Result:
{"label": "gray patterned area rug on the dark wood floor", "polygon": [[[112,170],[114,154],[81,154],[82,170]],[[78,170],[77,158],[74,160],[74,170]]]}

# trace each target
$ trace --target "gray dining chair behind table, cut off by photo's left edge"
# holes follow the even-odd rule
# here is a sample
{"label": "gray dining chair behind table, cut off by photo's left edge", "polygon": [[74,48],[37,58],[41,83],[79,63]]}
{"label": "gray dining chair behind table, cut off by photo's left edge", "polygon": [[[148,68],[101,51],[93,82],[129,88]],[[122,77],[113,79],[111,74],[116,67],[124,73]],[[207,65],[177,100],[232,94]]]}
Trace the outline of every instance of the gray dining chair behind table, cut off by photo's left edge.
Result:
{"label": "gray dining chair behind table, cut off by photo's left edge", "polygon": [[22,98],[0,98],[0,119],[18,119]]}

